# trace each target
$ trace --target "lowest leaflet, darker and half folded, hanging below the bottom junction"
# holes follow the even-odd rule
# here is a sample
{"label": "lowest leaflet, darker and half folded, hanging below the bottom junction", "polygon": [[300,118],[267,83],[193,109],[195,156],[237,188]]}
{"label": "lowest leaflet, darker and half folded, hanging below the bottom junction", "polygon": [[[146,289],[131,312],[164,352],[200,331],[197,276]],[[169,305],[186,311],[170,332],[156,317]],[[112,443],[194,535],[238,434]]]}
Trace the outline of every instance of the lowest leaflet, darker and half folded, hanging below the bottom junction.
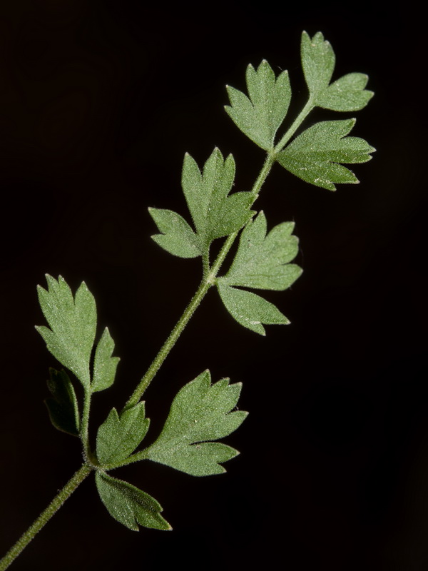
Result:
{"label": "lowest leaflet, darker and half folded, hanging below the bottom junction", "polygon": [[161,504],[151,495],[101,471],[97,471],[95,480],[108,513],[130,530],[139,531],[138,524],[156,530],[172,529],[161,516]]}

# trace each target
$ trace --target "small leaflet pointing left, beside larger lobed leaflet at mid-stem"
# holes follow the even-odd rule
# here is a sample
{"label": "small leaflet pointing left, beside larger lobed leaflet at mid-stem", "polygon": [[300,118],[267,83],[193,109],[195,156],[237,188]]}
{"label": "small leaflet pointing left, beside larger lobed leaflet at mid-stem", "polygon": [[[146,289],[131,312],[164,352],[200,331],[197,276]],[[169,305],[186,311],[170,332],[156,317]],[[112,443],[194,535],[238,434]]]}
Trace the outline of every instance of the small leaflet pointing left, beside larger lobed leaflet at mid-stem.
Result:
{"label": "small leaflet pointing left, beside larger lobed leaflet at mid-stem", "polygon": [[176,212],[161,208],[149,208],[148,212],[162,232],[152,236],[161,248],[179,258],[201,256],[203,251],[200,240],[184,218]]}

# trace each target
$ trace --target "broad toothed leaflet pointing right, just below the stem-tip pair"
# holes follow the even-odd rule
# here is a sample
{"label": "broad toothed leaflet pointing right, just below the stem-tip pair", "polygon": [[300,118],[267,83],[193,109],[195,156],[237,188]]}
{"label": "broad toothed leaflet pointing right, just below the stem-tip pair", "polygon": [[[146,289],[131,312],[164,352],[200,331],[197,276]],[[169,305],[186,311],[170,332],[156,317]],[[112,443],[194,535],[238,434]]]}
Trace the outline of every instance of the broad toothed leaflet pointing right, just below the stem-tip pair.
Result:
{"label": "broad toothed leaflet pointing right, just below the stem-tip pair", "polygon": [[354,173],[339,163],[365,163],[375,151],[360,137],[347,137],[355,119],[320,121],[295,138],[277,161],[287,171],[315,184],[335,191],[335,183],[358,183]]}

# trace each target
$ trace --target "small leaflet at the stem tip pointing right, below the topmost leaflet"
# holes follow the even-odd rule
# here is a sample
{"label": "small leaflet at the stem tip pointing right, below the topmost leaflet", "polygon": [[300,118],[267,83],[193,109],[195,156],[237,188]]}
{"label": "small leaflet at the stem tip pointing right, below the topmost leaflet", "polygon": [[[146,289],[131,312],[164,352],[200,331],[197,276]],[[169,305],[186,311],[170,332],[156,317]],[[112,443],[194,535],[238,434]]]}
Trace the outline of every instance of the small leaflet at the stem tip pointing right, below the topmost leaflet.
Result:
{"label": "small leaflet at the stem tip pointing right, below the topmost leaflet", "polygon": [[365,74],[347,74],[337,79],[317,97],[317,106],[332,111],[360,111],[374,95],[364,89],[368,79]]}

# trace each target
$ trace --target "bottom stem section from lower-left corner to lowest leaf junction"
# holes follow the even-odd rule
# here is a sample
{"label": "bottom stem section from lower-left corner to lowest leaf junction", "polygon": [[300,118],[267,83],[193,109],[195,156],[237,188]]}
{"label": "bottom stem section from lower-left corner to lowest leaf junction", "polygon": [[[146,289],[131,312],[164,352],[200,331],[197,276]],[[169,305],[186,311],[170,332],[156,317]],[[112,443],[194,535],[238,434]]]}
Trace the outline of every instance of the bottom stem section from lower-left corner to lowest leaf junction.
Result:
{"label": "bottom stem section from lower-left corner to lowest leaf junction", "polygon": [[51,517],[59,510],[61,505],[68,500],[68,497],[76,490],[81,482],[91,473],[92,468],[83,464],[80,470],[77,470],[76,474],[73,475],[71,480],[68,480],[66,485],[60,492],[54,497],[46,510],[41,512],[36,521],[29,527],[28,530],[19,538],[13,547],[6,553],[3,559],[0,560],[0,571],[4,571],[14,562],[16,557],[21,553],[22,550],[34,539],[36,533],[38,533],[44,525],[51,519]]}

